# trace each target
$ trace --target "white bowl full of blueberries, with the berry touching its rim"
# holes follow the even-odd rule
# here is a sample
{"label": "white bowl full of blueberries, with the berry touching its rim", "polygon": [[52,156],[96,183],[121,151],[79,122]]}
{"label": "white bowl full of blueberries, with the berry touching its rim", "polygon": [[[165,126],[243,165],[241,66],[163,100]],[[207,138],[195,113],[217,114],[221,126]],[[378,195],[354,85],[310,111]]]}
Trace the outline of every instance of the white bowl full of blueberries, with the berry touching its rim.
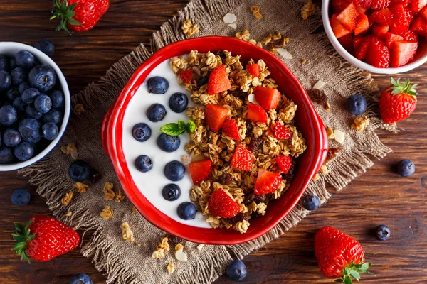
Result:
{"label": "white bowl full of blueberries, with the berry touching its rim", "polygon": [[[58,144],[70,116],[70,91],[63,73],[37,48],[0,42],[0,171],[36,163]],[[41,51],[43,50],[43,51]]]}

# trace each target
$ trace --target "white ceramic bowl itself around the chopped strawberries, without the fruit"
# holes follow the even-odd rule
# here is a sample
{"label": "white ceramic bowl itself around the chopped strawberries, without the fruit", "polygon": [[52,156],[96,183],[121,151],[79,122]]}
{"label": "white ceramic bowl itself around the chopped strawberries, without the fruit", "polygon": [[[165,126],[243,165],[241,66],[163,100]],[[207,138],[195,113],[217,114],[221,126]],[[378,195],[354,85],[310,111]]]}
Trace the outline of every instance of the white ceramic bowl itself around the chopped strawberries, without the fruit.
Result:
{"label": "white ceramic bowl itself around the chopped strawberries, without the fruit", "polygon": [[327,34],[327,37],[329,38],[330,42],[334,46],[335,50],[341,55],[345,60],[352,63],[352,65],[359,67],[361,69],[367,70],[371,73],[377,73],[377,74],[396,74],[396,73],[403,73],[408,72],[413,69],[415,69],[418,66],[423,65],[425,62],[427,62],[427,40],[423,40],[423,42],[420,43],[418,46],[418,51],[415,55],[415,58],[408,64],[397,67],[397,68],[377,68],[374,67],[366,62],[363,62],[362,60],[359,60],[355,58],[353,55],[351,55],[347,50],[345,50],[342,45],[339,43],[337,38],[335,38],[334,32],[332,31],[332,27],[330,24],[330,16],[332,16],[332,4],[331,0],[322,0],[322,20],[323,20],[323,26],[325,27],[325,31]]}

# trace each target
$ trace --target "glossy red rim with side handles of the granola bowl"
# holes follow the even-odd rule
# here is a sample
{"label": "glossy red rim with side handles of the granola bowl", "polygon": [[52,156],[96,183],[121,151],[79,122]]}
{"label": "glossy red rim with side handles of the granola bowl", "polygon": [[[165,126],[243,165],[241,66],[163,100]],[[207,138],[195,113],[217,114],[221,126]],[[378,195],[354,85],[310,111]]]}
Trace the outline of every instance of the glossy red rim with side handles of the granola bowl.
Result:
{"label": "glossy red rim with side handles of the granola bowl", "polygon": [[[280,67],[283,68],[285,74],[289,76],[292,81],[295,81],[298,92],[300,92],[304,96],[302,99],[305,100],[306,110],[310,113],[310,116],[312,116],[312,129],[315,129],[315,134],[313,135],[314,141],[311,141],[311,144],[313,147],[315,147],[314,151],[315,153],[318,153],[318,155],[315,155],[315,157],[310,160],[312,170],[310,170],[310,173],[305,176],[304,182],[302,182],[302,187],[300,186],[302,190],[290,197],[292,198],[292,201],[290,202],[291,206],[288,206],[287,209],[284,209],[282,214],[275,216],[275,222],[273,222],[269,226],[263,226],[259,230],[251,232],[251,234],[233,234],[232,237],[228,235],[226,238],[223,239],[221,239],[221,237],[219,236],[216,239],[206,239],[206,237],[204,237],[204,230],[215,229],[199,228],[182,224],[176,222],[174,219],[167,217],[167,215],[160,212],[137,189],[129,173],[125,156],[122,151],[122,119],[125,114],[127,104],[132,98],[132,94],[135,94],[137,92],[137,89],[140,85],[139,81],[141,81],[141,78],[145,79],[149,75],[149,72],[151,72],[152,69],[154,69],[154,67],[159,65],[161,62],[166,60],[166,58],[172,58],[176,56],[172,55],[169,57],[165,57],[164,55],[171,53],[173,54],[174,48],[179,45],[189,45],[191,47],[194,47],[194,45],[203,45],[204,43],[206,43],[206,41],[226,41],[228,45],[240,45],[241,48],[258,48],[257,46],[252,45],[251,43],[246,43],[245,41],[238,40],[237,38],[229,38],[223,36],[207,36],[201,38],[180,40],[157,50],[156,53],[150,56],[144,63],[142,63],[142,65],[137,68],[137,70],[135,70],[132,77],[130,77],[130,80],[122,89],[122,92],[120,92],[120,94],[117,96],[117,99],[107,111],[107,114],[105,114],[101,130],[102,146],[105,149],[105,152],[109,156],[110,160],[112,161],[112,165],[115,169],[115,172],[117,173],[117,178],[119,179],[122,185],[122,189],[129,198],[130,202],[132,202],[132,204],[135,205],[135,207],[142,214],[142,216],[154,226],[157,226],[159,229],[166,231],[169,234],[199,244],[241,244],[256,239],[259,236],[262,236],[263,234],[270,231],[270,229],[273,229],[273,227],[276,226],[280,221],[282,221],[282,219],[284,219],[288,215],[288,213],[295,207],[297,202],[300,200],[300,197],[307,189],[307,186],[312,180],[312,177],[318,172],[318,170],[320,170],[320,167],[324,163],[327,155],[328,141],[325,132],[325,126],[323,126],[322,120],[317,115],[314,107],[312,107],[310,99],[308,98],[308,95],[299,80],[297,80],[295,75],[293,75],[293,73],[288,69],[288,67],[286,67],[286,65],[282,61],[280,61],[279,58],[277,58],[275,55],[271,54],[267,50],[264,50],[263,48],[258,48],[260,58],[268,58],[269,61],[275,61],[275,64],[280,65]],[[144,76],[144,73],[147,74]],[[142,82],[144,82],[144,80],[142,80]]]}

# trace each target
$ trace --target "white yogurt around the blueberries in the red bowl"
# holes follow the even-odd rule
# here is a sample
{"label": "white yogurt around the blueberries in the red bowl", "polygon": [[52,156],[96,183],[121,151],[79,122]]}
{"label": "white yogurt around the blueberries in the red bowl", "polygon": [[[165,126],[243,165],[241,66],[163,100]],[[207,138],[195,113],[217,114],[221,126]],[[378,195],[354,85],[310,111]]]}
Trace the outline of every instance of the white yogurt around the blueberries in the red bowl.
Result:
{"label": "white yogurt around the blueberries in the red bowl", "polygon": [[[162,76],[169,81],[169,89],[165,94],[150,94],[148,92],[147,80],[154,76]],[[139,87],[137,94],[130,100],[125,111],[125,118],[123,119],[122,146],[126,163],[129,166],[130,175],[139,191],[147,197],[147,200],[168,217],[189,226],[211,228],[209,223],[205,222],[206,217],[200,212],[197,212],[196,217],[192,220],[183,220],[179,218],[176,212],[179,204],[186,201],[190,202],[189,192],[193,182],[191,182],[188,165],[186,165],[186,175],[182,180],[179,180],[179,182],[168,180],[163,173],[164,166],[167,163],[172,160],[181,161],[181,155],[186,155],[184,146],[186,143],[189,143],[189,135],[187,133],[182,133],[179,136],[181,145],[178,150],[172,153],[164,152],[157,146],[157,137],[162,133],[162,131],[160,131],[161,126],[171,122],[176,123],[178,119],[185,122],[189,121],[188,116],[186,116],[186,111],[181,114],[176,114],[170,109],[169,98],[172,94],[181,92],[189,97],[189,107],[194,107],[194,103],[190,100],[190,92],[178,83],[178,79],[170,67],[170,60],[166,60],[155,67],[147,77],[147,80]],[[164,119],[159,122],[152,122],[147,118],[147,109],[155,103],[162,104],[167,111]],[[152,136],[144,142],[138,142],[132,136],[133,126],[141,122],[148,124],[152,130]],[[152,159],[153,168],[149,170],[149,172],[141,173],[135,167],[135,160],[139,155],[148,155],[149,158]],[[181,188],[181,196],[177,200],[168,201],[162,196],[163,187],[169,183],[179,185]]]}

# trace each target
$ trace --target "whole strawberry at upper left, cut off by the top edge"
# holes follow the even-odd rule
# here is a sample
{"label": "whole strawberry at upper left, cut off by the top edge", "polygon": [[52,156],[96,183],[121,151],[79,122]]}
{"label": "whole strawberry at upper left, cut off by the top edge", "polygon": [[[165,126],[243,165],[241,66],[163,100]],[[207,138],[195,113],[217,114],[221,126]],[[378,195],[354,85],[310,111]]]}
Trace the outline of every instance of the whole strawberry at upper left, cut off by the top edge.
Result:
{"label": "whole strawberry at upper left, cut off by the top edge", "polygon": [[110,0],[54,0],[51,20],[60,18],[56,31],[88,31],[110,7]]}

